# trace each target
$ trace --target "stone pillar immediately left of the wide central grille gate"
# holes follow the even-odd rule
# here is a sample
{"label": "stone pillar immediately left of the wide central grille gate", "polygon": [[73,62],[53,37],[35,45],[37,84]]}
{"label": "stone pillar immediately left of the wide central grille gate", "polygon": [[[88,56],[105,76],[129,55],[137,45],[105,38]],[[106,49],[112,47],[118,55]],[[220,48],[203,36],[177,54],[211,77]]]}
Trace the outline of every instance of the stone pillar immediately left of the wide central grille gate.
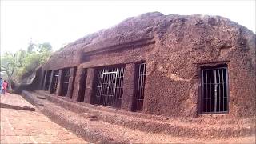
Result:
{"label": "stone pillar immediately left of the wide central grille gate", "polygon": [[94,97],[94,74],[95,69],[89,68],[87,71],[87,78],[86,78],[86,92],[84,102],[92,103]]}

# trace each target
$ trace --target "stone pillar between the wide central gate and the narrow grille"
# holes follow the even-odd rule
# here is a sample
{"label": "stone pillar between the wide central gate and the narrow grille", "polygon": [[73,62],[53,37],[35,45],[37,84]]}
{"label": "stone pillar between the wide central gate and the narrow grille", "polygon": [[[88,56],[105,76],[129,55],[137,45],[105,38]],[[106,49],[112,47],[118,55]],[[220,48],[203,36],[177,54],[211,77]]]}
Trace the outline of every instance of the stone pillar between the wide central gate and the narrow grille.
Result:
{"label": "stone pillar between the wide central gate and the narrow grille", "polygon": [[123,78],[123,94],[122,94],[122,105],[121,109],[123,110],[132,110],[134,103],[134,84],[135,84],[135,71],[136,65],[130,63],[126,65]]}

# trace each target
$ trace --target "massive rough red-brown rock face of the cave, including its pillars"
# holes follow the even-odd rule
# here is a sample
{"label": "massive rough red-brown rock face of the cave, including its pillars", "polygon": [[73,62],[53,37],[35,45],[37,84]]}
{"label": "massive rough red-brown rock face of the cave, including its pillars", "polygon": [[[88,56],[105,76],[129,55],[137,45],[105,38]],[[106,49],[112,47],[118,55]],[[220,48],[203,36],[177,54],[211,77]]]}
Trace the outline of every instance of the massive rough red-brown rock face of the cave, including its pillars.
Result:
{"label": "massive rough red-brown rock face of the cave, including its pillars", "polygon": [[255,42],[252,31],[227,18],[155,12],[128,18],[70,43],[55,52],[42,69],[74,67],[74,90],[69,89],[74,101],[81,97],[82,68],[88,69],[84,101],[91,103],[94,69],[122,64],[128,71],[121,109],[131,110],[134,86],[130,78],[134,64],[143,61],[146,88],[142,113],[195,118],[201,114],[202,67],[225,64],[229,111],[224,118],[254,117]]}

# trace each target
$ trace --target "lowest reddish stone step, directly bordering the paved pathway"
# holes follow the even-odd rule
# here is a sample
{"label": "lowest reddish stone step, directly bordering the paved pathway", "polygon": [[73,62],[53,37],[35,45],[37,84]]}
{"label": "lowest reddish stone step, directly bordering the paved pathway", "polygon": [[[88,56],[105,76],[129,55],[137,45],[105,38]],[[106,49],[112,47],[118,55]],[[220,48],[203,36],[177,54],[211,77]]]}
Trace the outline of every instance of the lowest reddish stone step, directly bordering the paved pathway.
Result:
{"label": "lowest reddish stone step, directly bordering the paved pathway", "polygon": [[[23,97],[33,98],[31,93],[23,92]],[[70,110],[66,110],[49,101],[36,99],[33,102],[43,102],[44,106],[38,107],[43,114],[46,114],[52,121],[58,123],[60,126],[66,127],[74,134],[84,138],[89,142],[96,143],[170,143],[186,141],[186,138],[174,138],[170,135],[150,134],[138,130],[131,130],[126,127],[113,125],[101,120],[91,121],[88,115],[77,114]],[[197,139],[190,139],[193,142],[200,142]],[[189,142],[189,141],[188,141]]]}

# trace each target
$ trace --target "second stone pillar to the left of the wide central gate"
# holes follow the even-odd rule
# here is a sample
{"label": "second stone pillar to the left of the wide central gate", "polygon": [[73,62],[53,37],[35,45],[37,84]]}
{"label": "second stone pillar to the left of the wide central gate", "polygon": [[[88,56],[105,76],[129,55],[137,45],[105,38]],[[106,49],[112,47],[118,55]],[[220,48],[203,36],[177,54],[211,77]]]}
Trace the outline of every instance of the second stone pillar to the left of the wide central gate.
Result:
{"label": "second stone pillar to the left of the wide central gate", "polygon": [[77,74],[75,76],[74,81],[74,90],[73,90],[73,97],[72,99],[74,101],[78,101],[78,98],[80,97],[80,90],[81,90],[81,83],[82,83],[82,77],[83,77],[83,70],[82,67],[78,67]]}

